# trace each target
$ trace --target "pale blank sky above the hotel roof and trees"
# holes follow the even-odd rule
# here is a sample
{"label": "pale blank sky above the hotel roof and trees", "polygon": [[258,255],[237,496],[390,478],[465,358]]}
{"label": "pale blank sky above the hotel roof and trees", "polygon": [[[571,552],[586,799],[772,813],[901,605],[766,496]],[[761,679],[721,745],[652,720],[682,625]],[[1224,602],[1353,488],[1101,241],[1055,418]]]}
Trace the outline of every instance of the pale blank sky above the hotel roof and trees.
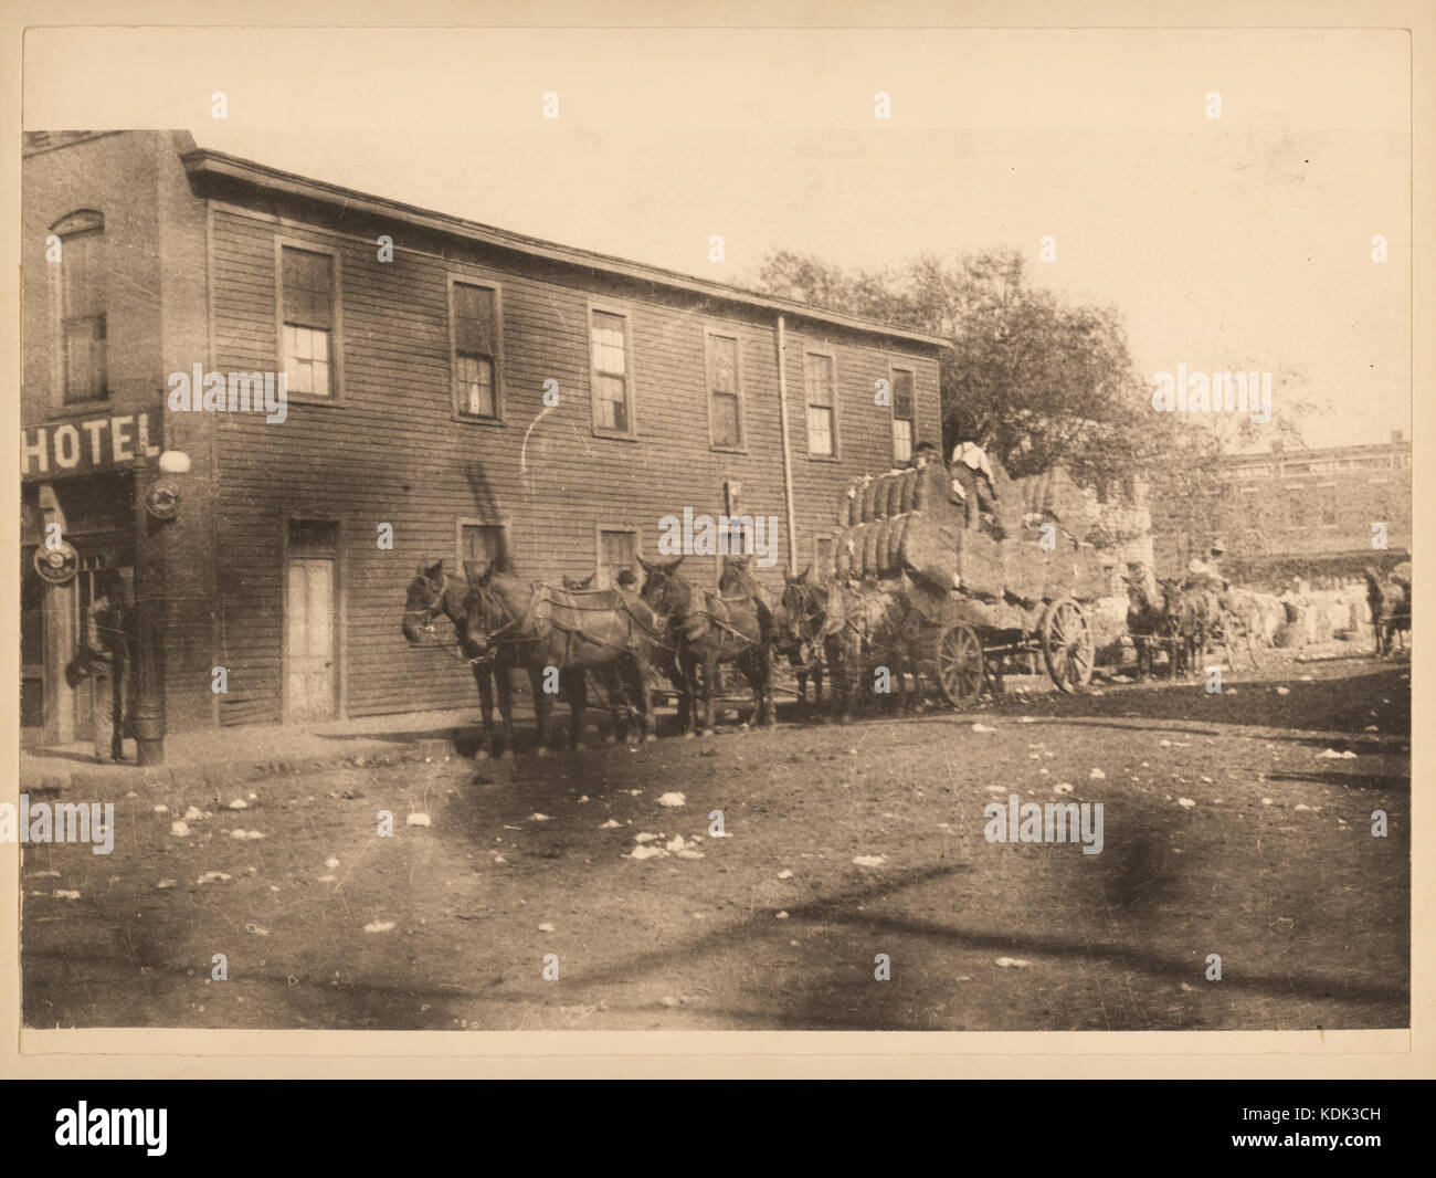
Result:
{"label": "pale blank sky above the hotel roof and trees", "polygon": [[1410,435],[1402,30],[34,29],[24,96],[722,282],[1017,249],[1149,386],[1272,372],[1308,444]]}

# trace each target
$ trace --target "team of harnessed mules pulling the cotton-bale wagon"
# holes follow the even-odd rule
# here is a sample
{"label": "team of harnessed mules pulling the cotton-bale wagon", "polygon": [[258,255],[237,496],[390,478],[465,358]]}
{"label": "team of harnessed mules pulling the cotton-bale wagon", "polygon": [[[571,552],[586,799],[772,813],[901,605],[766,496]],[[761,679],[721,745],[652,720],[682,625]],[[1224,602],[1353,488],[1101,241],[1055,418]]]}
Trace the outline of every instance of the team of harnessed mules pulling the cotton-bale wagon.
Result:
{"label": "team of harnessed mules pulling the cotton-bale wagon", "polygon": [[638,589],[592,589],[592,579],[564,578],[559,588],[471,562],[455,576],[442,560],[425,560],[408,585],[402,632],[411,645],[442,644],[435,621],[448,619],[449,649],[478,685],[480,757],[513,756],[514,671],[528,675],[540,756],[550,743],[556,697],[569,705],[569,747],[579,747],[595,682],[609,708],[606,740],[626,740],[633,721],[645,741],[653,737],[651,685],[658,675],[673,687],[684,734],[711,736],[724,665],[747,680],[752,723],[773,727],[774,654],[800,675],[811,674],[819,698],[826,667],[843,721],[873,664],[890,665],[903,704],[920,700],[912,626],[889,590],[817,582],[804,570],[787,575],[781,598],[770,605],[751,557],[727,557],[717,592],[686,579],[682,563],[640,559]]}

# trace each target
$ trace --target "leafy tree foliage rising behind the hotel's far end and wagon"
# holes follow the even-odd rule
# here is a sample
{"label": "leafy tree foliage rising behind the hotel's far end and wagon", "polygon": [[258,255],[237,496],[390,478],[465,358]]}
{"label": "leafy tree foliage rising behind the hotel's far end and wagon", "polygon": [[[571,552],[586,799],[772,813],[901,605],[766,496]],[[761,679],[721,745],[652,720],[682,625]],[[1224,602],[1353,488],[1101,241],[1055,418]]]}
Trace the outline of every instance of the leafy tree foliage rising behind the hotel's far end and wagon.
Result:
{"label": "leafy tree foliage rising behind the hotel's far end and wagon", "polygon": [[[942,444],[975,441],[1012,477],[1064,465],[1103,498],[1147,490],[1159,539],[1180,556],[1239,533],[1241,507],[1223,460],[1269,431],[1300,444],[1311,405],[1282,398],[1267,425],[1246,414],[1157,412],[1139,379],[1116,310],[1071,305],[1028,283],[1014,250],[955,261],[923,256],[877,272],[843,270],[787,250],[768,256],[757,287],[816,306],[945,336]],[[1255,366],[1255,365],[1252,365]],[[1232,366],[1236,371],[1236,366]],[[1278,378],[1278,388],[1295,374]],[[1106,536],[1117,543],[1123,536]]]}

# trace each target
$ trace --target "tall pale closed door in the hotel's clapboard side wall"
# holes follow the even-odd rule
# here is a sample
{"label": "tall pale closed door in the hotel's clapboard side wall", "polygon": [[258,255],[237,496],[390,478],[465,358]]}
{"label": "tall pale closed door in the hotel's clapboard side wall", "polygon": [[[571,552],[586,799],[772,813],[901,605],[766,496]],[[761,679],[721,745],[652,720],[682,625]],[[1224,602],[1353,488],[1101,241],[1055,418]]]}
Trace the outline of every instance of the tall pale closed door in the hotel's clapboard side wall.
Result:
{"label": "tall pale closed door in the hotel's clapboard side wall", "polygon": [[332,720],[339,700],[339,526],[290,520],[284,569],[284,718]]}

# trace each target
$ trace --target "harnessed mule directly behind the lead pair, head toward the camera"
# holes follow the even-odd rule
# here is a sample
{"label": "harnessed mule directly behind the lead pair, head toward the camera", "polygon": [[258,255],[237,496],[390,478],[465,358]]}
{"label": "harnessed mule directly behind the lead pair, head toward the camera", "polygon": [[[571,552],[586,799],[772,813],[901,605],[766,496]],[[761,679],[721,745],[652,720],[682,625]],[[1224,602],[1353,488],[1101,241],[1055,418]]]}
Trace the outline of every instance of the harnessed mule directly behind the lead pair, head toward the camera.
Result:
{"label": "harnessed mule directly behind the lead pair, head toward the camera", "polygon": [[[732,560],[732,557],[728,557]],[[748,567],[752,557],[725,565],[728,593],[698,589],[678,573],[679,556],[666,565],[639,557],[642,599],[668,621],[676,671],[692,701],[684,736],[694,736],[696,702],[704,704],[702,734],[714,733],[714,684],[719,664],[734,664],[748,680],[755,701],[754,723],[777,725],[773,708],[773,613]],[[701,674],[699,674],[701,672]]]}

